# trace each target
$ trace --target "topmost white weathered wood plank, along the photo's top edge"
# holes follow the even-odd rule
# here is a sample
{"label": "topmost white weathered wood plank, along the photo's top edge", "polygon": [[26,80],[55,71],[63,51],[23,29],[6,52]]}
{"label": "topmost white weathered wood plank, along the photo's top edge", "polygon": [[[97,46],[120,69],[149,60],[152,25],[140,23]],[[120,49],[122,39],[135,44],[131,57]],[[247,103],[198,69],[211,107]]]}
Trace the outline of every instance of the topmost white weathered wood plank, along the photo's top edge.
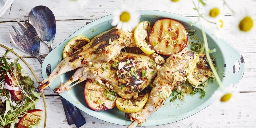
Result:
{"label": "topmost white weathered wood plank, along the photo's top edge", "polygon": [[[236,1],[227,0],[227,3],[231,6],[231,8],[235,11],[239,11],[241,7],[247,7],[253,14],[255,12],[256,2],[252,0],[244,0],[244,1]],[[97,0],[97,1],[89,1],[88,6],[86,7],[78,7],[72,9],[63,4],[63,1],[57,0],[45,0],[45,1],[37,1],[33,0],[19,0],[14,1],[13,5],[10,9],[6,11],[6,13],[0,18],[0,22],[4,21],[23,21],[27,20],[27,16],[29,11],[38,5],[44,5],[49,7],[57,20],[65,20],[65,19],[98,19],[100,17],[112,14],[114,10],[122,7],[123,1],[117,0]],[[180,14],[183,16],[198,16],[197,12],[193,10],[192,1],[182,2],[182,4],[178,4],[178,7],[170,7],[165,4],[163,0],[155,2],[154,0],[127,0],[125,5],[127,7],[133,7],[137,10],[161,10],[161,11],[169,11],[172,13]],[[254,10],[254,11],[253,11]],[[225,9],[225,15],[233,15],[231,11]]]}

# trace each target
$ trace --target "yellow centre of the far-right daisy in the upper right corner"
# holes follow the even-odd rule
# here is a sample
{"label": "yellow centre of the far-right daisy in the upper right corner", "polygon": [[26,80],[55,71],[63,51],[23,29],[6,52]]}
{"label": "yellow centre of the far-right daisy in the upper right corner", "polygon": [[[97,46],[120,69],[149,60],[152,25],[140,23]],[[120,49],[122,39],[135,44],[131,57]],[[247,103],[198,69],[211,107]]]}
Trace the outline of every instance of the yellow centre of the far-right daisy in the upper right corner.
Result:
{"label": "yellow centre of the far-right daisy in the upper right corner", "polygon": [[251,17],[247,16],[243,18],[239,23],[239,29],[241,31],[250,31],[253,27],[253,19]]}

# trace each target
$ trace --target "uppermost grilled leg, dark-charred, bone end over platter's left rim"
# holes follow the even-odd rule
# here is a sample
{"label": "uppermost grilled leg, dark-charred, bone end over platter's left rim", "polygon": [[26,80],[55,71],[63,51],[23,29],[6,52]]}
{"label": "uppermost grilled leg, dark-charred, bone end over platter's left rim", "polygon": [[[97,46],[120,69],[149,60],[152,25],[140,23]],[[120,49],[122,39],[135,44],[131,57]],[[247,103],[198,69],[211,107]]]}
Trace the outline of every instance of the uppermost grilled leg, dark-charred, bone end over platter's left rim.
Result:
{"label": "uppermost grilled leg, dark-charred, bone end over platter's left rim", "polygon": [[97,35],[90,43],[63,59],[47,79],[39,82],[35,92],[45,90],[63,73],[88,64],[109,62],[116,58],[123,47],[136,46],[133,35],[133,31],[118,30],[116,27]]}

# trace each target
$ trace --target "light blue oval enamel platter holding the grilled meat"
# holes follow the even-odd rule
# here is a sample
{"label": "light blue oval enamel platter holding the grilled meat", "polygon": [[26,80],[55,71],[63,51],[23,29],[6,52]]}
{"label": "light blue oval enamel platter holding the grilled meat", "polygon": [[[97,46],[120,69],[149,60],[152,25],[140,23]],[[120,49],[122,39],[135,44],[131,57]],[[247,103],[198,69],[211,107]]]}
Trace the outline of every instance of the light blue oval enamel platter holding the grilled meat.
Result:
{"label": "light blue oval enamel platter holding the grilled meat", "polygon": [[[141,21],[150,21],[152,24],[154,24],[157,20],[163,18],[175,19],[181,22],[187,30],[196,30],[196,34],[198,35],[198,37],[200,39],[203,39],[201,25],[187,17],[155,10],[140,10],[139,13],[141,13]],[[63,48],[70,39],[77,35],[84,35],[92,39],[95,35],[113,28],[113,26],[111,26],[112,17],[113,15],[107,15],[83,26],[75,33],[70,35],[70,37],[68,37],[59,46],[57,46],[51,53],[49,53],[45,57],[42,64],[43,79],[46,79],[48,77],[46,75],[46,66],[48,64],[51,65],[52,71],[58,65],[58,63],[62,61]],[[223,85],[225,87],[229,86],[230,84],[236,85],[242,78],[245,71],[245,63],[243,61],[241,53],[222,38],[217,39],[211,30],[207,29],[206,27],[203,27],[203,29],[206,32],[209,47],[211,49],[217,49],[217,51],[211,55],[214,55],[216,57],[215,64],[218,67],[218,74],[222,79]],[[193,41],[196,42],[197,40],[189,37],[188,43]],[[238,72],[235,72],[234,70],[235,60],[238,60],[240,64],[240,69]],[[73,73],[74,71],[70,71],[61,75],[54,80],[50,88],[54,90],[55,87],[58,87],[61,83],[67,81]],[[118,125],[131,124],[131,121],[125,118],[125,113],[119,111],[116,107],[114,109],[106,111],[91,110],[86,104],[83,87],[84,83],[80,84],[79,86],[74,86],[71,88],[70,91],[65,91],[60,95],[63,98],[67,99],[69,102],[73,103],[80,110],[93,117]],[[176,100],[175,102],[170,102],[170,97],[166,100],[166,102],[160,109],[158,109],[153,115],[151,115],[147,119],[146,122],[142,124],[142,126],[163,125],[190,117],[191,115],[198,113],[199,111],[214,102],[213,99],[211,99],[210,97],[217,89],[219,89],[219,87],[217,83],[214,82],[206,88],[206,94],[204,98],[201,98],[201,94],[197,93],[193,96],[186,96],[185,102],[179,100]],[[79,103],[76,103],[76,101],[78,101]]]}

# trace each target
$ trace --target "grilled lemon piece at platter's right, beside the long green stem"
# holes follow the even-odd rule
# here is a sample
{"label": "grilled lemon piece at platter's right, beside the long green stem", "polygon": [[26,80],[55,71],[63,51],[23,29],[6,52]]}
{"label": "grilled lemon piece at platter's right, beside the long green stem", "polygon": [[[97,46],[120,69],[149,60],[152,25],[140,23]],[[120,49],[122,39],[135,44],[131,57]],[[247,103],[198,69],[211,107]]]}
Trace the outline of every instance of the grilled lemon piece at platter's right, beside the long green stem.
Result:
{"label": "grilled lemon piece at platter's right, beside the long green stem", "polygon": [[187,80],[193,85],[202,84],[213,73],[205,53],[198,54],[189,68],[190,72],[187,74]]}

